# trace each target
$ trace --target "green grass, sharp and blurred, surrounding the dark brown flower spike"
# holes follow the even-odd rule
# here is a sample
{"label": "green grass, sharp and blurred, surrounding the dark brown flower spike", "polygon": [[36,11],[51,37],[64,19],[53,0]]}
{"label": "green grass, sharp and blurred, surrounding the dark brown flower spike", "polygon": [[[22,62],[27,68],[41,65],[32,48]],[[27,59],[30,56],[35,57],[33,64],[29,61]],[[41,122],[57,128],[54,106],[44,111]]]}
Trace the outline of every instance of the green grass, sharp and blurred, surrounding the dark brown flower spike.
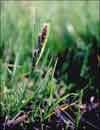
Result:
{"label": "green grass, sharp and blurred, surrounding the dark brown flower spike", "polygon": [[[85,54],[81,75],[85,77],[87,57],[90,51],[90,43],[87,39],[92,35],[96,36],[98,47],[100,47],[98,2],[90,1],[87,4],[86,1],[34,1],[33,5],[31,2],[29,5],[20,4],[20,2],[0,2],[2,3],[0,17],[0,107],[2,115],[13,117],[28,101],[32,100],[33,108],[30,118],[34,120],[40,115],[41,120],[45,120],[70,95],[73,96],[74,101],[81,102],[83,89],[71,93],[72,83],[66,85],[62,80],[60,84],[64,92],[61,96],[58,94],[61,87],[53,76],[57,60],[55,55],[64,51],[65,48],[74,48],[77,54],[78,49],[81,48]],[[50,6],[52,6],[51,11]],[[47,44],[38,66],[34,67],[31,73],[32,52],[42,25],[46,22],[50,24]],[[72,31],[69,26],[72,27]],[[13,65],[12,69],[9,69],[9,63]],[[45,69],[46,74],[43,77]],[[29,74],[29,78],[24,77],[26,74]],[[61,77],[66,78],[64,75]],[[90,82],[92,82],[91,77]],[[46,106],[45,102],[47,102]],[[44,113],[41,112],[41,106]],[[80,115],[78,108],[77,115]]]}

